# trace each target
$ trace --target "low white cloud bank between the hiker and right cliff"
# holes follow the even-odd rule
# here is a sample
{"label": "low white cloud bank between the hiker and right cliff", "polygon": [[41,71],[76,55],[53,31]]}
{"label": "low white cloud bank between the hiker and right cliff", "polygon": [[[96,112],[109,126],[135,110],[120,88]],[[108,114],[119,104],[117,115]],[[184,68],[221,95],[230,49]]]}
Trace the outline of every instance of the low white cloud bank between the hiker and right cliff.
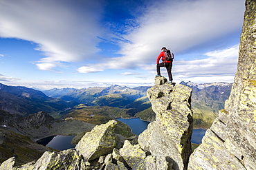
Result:
{"label": "low white cloud bank between the hiker and right cliff", "polygon": [[[230,81],[234,78],[237,71],[237,61],[239,54],[239,45],[229,47],[224,50],[217,50],[205,53],[207,58],[194,61],[174,61],[173,74],[177,78],[193,78],[196,82],[211,81],[209,78],[223,79]],[[195,79],[195,77],[198,77]],[[201,81],[198,79],[201,78]],[[213,80],[212,80],[213,81]]]}

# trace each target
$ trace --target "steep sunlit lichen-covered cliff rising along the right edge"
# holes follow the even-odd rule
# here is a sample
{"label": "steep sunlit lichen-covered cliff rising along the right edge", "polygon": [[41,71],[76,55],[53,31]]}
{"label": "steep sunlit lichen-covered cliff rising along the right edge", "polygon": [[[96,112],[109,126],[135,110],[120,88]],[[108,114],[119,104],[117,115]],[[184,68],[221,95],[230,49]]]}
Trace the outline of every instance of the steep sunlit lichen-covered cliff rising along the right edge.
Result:
{"label": "steep sunlit lichen-covered cliff rising along the right edge", "polygon": [[256,169],[256,1],[246,1],[237,74],[225,109],[188,169]]}

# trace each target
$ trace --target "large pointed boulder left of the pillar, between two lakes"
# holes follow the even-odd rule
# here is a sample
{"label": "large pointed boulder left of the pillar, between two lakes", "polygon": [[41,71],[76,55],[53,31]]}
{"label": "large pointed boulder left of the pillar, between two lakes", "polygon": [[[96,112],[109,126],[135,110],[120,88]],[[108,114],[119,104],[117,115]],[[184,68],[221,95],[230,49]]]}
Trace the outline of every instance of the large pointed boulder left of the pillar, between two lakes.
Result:
{"label": "large pointed boulder left of the pillar, between two lakes", "polygon": [[84,157],[84,160],[93,160],[111,153],[116,147],[117,138],[113,133],[116,125],[116,120],[110,120],[106,124],[94,127],[82,137],[75,149]]}

